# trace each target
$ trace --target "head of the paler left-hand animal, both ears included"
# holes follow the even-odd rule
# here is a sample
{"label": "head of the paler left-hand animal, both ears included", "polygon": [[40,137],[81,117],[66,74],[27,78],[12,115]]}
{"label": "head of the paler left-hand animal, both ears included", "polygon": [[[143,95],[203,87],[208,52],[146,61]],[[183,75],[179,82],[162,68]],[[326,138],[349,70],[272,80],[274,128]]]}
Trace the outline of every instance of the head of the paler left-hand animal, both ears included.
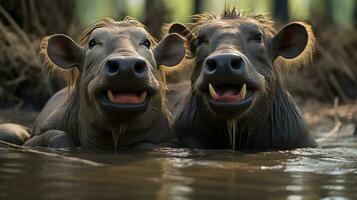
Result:
{"label": "head of the paler left-hand animal, both ears included", "polygon": [[143,115],[150,121],[165,109],[159,66],[178,64],[183,42],[169,34],[157,43],[138,21],[107,18],[90,25],[78,42],[61,34],[45,38],[41,53],[52,67],[79,72],[74,88],[87,121],[120,124]]}

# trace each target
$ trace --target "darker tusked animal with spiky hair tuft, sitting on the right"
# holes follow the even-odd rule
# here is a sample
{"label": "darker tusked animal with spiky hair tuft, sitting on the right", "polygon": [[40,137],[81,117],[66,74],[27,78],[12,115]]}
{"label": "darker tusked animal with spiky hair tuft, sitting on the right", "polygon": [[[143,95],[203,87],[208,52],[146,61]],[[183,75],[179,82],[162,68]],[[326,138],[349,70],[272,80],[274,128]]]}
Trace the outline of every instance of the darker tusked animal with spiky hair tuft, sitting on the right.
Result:
{"label": "darker tusked animal with spiky hair tuft, sitting on the right", "polygon": [[311,27],[293,22],[277,32],[265,15],[235,8],[225,8],[220,17],[195,15],[193,21],[188,28],[175,23],[168,30],[186,36],[192,54],[191,92],[174,122],[183,146],[314,147],[281,81],[283,70],[311,60]]}

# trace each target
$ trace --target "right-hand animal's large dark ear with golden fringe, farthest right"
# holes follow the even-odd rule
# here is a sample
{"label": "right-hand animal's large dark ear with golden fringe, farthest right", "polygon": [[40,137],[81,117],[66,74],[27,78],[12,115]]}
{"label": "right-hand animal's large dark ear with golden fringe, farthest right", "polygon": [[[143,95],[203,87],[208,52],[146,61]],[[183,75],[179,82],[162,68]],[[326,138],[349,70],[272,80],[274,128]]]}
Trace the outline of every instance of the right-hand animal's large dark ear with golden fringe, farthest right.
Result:
{"label": "right-hand animal's large dark ear with golden fringe, farthest right", "polygon": [[[310,32],[311,34],[309,34]],[[278,56],[286,59],[298,57],[308,46],[309,40],[313,40],[313,37],[312,30],[307,24],[293,22],[286,25],[272,39],[274,59]]]}

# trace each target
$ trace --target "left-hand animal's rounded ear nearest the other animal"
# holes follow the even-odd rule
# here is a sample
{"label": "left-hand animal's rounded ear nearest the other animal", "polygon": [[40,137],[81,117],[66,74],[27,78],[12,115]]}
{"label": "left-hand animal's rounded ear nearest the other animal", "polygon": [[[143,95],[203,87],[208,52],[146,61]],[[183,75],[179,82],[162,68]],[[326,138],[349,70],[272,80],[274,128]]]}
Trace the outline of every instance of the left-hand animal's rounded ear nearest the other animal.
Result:
{"label": "left-hand animal's rounded ear nearest the other animal", "polygon": [[185,40],[176,33],[167,35],[154,49],[158,65],[175,66],[185,56]]}

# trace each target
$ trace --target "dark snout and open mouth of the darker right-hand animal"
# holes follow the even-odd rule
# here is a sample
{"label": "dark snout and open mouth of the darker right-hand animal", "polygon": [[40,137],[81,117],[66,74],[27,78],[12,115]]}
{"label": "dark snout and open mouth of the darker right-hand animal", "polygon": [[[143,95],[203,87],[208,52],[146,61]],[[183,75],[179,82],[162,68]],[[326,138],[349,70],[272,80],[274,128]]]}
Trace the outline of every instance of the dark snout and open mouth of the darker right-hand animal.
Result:
{"label": "dark snout and open mouth of the darker right-hand animal", "polygon": [[225,117],[247,111],[262,87],[262,79],[239,53],[214,53],[203,63],[199,88],[211,109]]}

